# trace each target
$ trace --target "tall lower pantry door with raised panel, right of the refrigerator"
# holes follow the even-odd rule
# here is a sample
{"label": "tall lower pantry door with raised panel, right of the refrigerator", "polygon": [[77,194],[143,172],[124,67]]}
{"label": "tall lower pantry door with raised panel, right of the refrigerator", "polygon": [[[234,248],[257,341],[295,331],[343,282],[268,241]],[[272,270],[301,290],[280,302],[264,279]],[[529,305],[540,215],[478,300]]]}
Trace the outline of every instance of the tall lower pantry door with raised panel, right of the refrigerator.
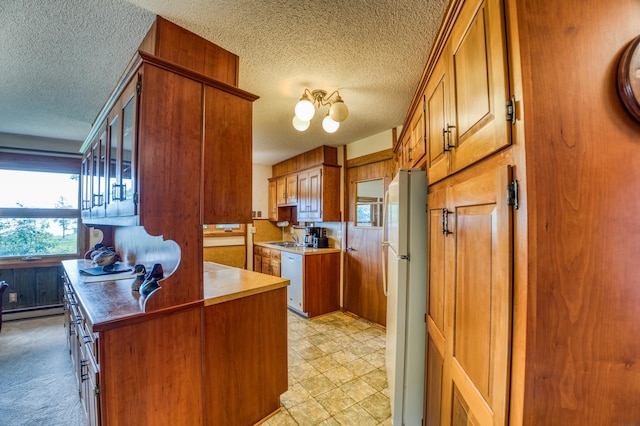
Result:
{"label": "tall lower pantry door with raised panel, right of the refrigerator", "polygon": [[[512,211],[505,189],[509,174],[509,168],[503,167],[448,189],[451,214],[445,225],[451,234],[445,235],[443,244],[445,425],[507,423],[513,252]],[[438,250],[438,240],[431,241],[430,247]],[[435,285],[442,282],[438,269],[431,272],[434,286],[439,287]],[[432,314],[435,310],[430,310]],[[436,320],[429,322],[428,341],[439,354],[439,327]],[[432,361],[428,368],[439,365],[439,360]]]}

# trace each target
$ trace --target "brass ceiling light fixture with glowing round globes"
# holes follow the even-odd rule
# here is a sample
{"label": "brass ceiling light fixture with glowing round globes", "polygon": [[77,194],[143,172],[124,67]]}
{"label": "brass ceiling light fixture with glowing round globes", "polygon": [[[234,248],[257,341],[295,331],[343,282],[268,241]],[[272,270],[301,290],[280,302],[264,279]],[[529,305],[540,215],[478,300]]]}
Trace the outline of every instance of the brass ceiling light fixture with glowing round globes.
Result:
{"label": "brass ceiling light fixture with glowing round globes", "polygon": [[[335,99],[331,100],[335,95]],[[327,133],[334,133],[340,127],[340,123],[349,116],[349,108],[345,105],[336,90],[327,96],[327,91],[322,89],[304,89],[300,101],[296,104],[296,115],[293,117],[293,127],[304,132],[309,128],[311,119],[316,113],[316,108],[329,105],[327,115],[322,120],[322,128]]]}

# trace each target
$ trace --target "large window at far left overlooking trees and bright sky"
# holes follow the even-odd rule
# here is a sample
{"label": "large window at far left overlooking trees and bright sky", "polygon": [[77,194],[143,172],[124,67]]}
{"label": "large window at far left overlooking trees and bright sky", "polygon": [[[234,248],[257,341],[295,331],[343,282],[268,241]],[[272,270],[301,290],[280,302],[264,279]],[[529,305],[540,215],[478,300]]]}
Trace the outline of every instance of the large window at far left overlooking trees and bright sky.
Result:
{"label": "large window at far left overlooking trees and bright sky", "polygon": [[79,165],[46,164],[56,162],[56,157],[43,161],[27,161],[26,167],[12,162],[13,168],[0,161],[0,258],[32,260],[80,253],[79,174],[69,172],[79,170]]}

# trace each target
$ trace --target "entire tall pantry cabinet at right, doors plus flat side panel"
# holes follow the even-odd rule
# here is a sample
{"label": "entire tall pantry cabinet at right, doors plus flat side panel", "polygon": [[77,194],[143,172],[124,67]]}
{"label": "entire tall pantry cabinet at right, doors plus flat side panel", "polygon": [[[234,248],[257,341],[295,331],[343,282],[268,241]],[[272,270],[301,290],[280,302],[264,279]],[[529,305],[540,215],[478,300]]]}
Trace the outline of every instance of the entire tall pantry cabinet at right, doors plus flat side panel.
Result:
{"label": "entire tall pantry cabinet at right, doors plus flat side panel", "polygon": [[640,422],[640,123],[616,93],[637,16],[450,3],[395,147],[424,105],[426,424]]}

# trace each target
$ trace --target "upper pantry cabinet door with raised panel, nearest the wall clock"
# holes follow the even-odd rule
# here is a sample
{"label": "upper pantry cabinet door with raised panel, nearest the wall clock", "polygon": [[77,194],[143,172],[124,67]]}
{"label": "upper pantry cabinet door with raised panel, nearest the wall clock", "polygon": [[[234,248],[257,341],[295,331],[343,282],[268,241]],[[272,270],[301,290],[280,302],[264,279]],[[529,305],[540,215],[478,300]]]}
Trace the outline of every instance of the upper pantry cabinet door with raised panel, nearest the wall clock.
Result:
{"label": "upper pantry cabinet door with raised panel, nearest the wall clock", "polygon": [[456,124],[449,130],[455,172],[511,143],[502,1],[465,2],[450,43]]}

